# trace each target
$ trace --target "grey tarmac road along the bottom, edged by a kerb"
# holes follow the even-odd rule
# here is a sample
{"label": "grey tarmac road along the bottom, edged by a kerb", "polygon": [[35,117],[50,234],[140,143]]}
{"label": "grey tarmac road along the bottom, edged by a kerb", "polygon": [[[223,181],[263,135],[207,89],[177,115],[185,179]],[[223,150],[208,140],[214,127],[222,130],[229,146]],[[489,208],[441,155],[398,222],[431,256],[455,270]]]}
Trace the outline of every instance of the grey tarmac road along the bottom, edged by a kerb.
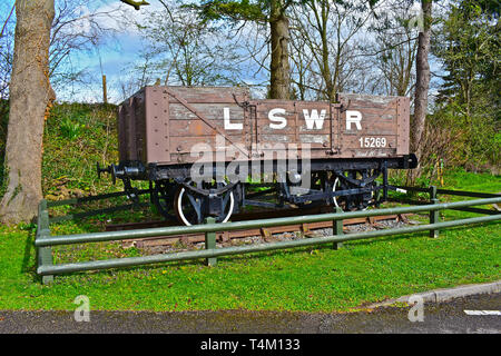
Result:
{"label": "grey tarmac road along the bottom, edged by a kerb", "polygon": [[[73,312],[0,312],[0,333],[468,333],[500,334],[501,315],[464,310],[501,310],[501,294],[425,304],[423,322],[411,323],[409,307],[381,307],[347,314],[287,312],[92,312],[75,322]],[[498,313],[499,314],[499,313]],[[412,315],[418,315],[412,313]]]}

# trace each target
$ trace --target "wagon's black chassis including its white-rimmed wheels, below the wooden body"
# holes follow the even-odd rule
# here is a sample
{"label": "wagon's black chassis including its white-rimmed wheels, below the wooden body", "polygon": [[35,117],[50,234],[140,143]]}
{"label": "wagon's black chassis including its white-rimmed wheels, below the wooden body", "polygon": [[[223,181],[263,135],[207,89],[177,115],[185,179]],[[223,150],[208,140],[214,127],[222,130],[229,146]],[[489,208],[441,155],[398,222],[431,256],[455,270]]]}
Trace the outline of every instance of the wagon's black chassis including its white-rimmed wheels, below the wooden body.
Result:
{"label": "wagon's black chassis including its white-rimmed wheels, below the wooden body", "polygon": [[[227,166],[229,162],[226,162]],[[248,170],[265,167],[272,168],[277,175],[279,167],[286,162],[246,161]],[[203,176],[216,177],[222,164],[203,167]],[[150,201],[167,219],[178,219],[186,225],[204,222],[206,217],[215,217],[218,221],[227,221],[233,212],[242,207],[255,206],[262,208],[291,208],[315,205],[342,205],[344,210],[365,209],[367,206],[379,206],[386,200],[389,189],[395,189],[387,184],[389,169],[409,169],[416,166],[414,155],[396,158],[357,158],[357,159],[313,159],[310,164],[312,186],[299,188],[287,179],[272,182],[229,182],[194,185],[190,176],[190,164],[157,165],[149,164],[144,167],[139,161],[111,165],[106,169],[98,166],[98,172],[109,172],[112,179],[124,181],[125,191],[132,201],[137,199],[137,188],[132,180],[148,180],[150,185]],[[302,167],[298,161],[296,167]],[[226,167],[225,167],[226,168]],[[212,171],[204,171],[212,169]],[[289,169],[287,167],[287,169]],[[297,168],[295,168],[297,169]],[[238,169],[235,174],[239,174]],[[297,174],[302,174],[301,170]],[[376,179],[382,177],[382,184]],[[336,187],[336,188],[335,188]],[[255,188],[267,188],[253,191]],[[299,192],[299,194],[298,194]],[[180,197],[179,195],[183,195]],[[179,200],[186,199],[186,204]],[[265,198],[258,199],[258,198]],[[276,201],[269,201],[271,198]],[[338,205],[340,202],[340,205]],[[183,211],[185,206],[191,210],[188,218]]]}

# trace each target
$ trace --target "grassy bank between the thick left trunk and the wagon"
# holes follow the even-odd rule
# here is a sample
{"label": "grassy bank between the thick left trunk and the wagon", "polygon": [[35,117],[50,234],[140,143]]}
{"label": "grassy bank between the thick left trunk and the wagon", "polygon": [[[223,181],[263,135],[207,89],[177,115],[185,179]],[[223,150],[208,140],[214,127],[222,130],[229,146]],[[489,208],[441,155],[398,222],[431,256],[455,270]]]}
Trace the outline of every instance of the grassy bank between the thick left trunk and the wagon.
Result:
{"label": "grassy bank between the thick left trunk and the wagon", "polygon": [[42,187],[48,199],[121,188],[98,179],[96,162],[118,162],[116,107],[62,103],[52,108],[43,134]]}

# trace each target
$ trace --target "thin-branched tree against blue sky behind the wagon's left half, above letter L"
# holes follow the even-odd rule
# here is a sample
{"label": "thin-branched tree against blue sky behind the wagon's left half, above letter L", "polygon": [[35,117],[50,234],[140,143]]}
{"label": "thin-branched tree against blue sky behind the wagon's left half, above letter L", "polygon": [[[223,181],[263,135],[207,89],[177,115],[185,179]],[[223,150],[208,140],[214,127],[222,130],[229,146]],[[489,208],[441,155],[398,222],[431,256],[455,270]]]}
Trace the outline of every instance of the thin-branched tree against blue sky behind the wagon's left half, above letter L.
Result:
{"label": "thin-branched tree against blue sky behind the wagon's left half, above letter L", "polygon": [[165,85],[237,83],[239,58],[227,33],[200,21],[191,9],[175,1],[158,1],[164,10],[136,23],[148,41],[144,53],[148,73],[158,73]]}

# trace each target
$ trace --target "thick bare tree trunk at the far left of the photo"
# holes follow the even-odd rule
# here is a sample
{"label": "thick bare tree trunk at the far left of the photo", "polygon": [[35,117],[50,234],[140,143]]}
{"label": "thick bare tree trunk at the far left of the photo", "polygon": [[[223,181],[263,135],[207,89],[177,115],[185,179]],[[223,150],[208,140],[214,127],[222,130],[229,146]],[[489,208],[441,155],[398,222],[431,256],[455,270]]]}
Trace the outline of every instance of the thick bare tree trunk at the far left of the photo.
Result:
{"label": "thick bare tree trunk at the far left of the photo", "polygon": [[16,37],[6,145],[4,224],[29,221],[42,198],[41,155],[46,109],[55,99],[49,82],[53,0],[17,0]]}

